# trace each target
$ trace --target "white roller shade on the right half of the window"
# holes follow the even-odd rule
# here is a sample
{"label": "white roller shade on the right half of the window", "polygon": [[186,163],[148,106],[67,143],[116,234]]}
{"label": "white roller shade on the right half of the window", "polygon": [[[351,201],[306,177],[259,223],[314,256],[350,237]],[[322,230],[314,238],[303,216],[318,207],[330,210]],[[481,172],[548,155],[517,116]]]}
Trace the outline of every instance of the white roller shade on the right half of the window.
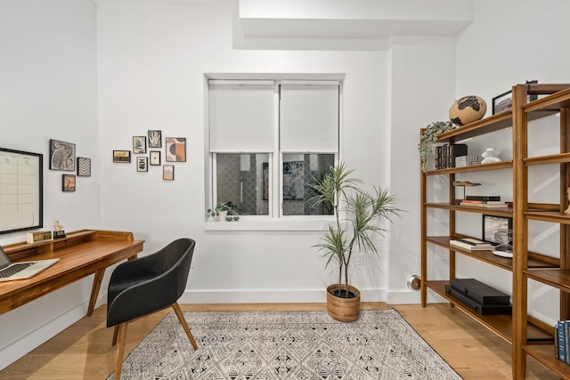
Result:
{"label": "white roller shade on the right half of the window", "polygon": [[283,82],[281,151],[338,152],[338,82]]}

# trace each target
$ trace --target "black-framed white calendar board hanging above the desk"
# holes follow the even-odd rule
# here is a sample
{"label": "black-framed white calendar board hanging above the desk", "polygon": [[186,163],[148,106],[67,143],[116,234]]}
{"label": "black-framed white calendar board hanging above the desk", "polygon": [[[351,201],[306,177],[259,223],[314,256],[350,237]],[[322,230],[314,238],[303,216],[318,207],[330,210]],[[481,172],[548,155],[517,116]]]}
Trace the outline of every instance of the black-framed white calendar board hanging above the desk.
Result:
{"label": "black-framed white calendar board hanging above the desk", "polygon": [[0,234],[44,226],[44,155],[0,148]]}

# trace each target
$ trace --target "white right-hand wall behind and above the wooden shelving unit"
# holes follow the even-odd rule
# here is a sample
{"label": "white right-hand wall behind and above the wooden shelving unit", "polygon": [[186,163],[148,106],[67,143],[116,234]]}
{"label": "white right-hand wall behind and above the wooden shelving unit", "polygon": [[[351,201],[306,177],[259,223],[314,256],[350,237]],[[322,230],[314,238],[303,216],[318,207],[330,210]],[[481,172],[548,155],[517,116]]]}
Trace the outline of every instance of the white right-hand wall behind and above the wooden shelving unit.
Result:
{"label": "white right-hand wall behind and above the wooden shelving unit", "polygon": [[[531,0],[482,0],[474,4],[474,21],[457,39],[455,94],[458,98],[468,94],[482,96],[488,105],[488,116],[492,112],[493,97],[509,91],[512,85],[532,79],[539,83],[570,82],[570,51],[564,43],[570,37],[567,21],[570,3],[548,0],[538,5]],[[536,138],[550,141],[544,134],[548,130],[556,133],[557,128],[542,129]],[[510,133],[502,133],[501,137],[510,139]],[[556,141],[558,144],[558,139]],[[494,141],[493,144],[497,146],[502,142]],[[509,174],[485,174],[483,180],[491,186],[493,181],[501,182],[501,175]],[[558,193],[558,182],[552,182],[550,186]],[[554,243],[558,244],[557,241]],[[512,276],[507,271],[464,257],[458,262],[458,271],[465,277],[476,276],[510,292]],[[540,312],[533,311],[534,308]],[[558,319],[558,291],[532,284],[529,310],[553,323]]]}

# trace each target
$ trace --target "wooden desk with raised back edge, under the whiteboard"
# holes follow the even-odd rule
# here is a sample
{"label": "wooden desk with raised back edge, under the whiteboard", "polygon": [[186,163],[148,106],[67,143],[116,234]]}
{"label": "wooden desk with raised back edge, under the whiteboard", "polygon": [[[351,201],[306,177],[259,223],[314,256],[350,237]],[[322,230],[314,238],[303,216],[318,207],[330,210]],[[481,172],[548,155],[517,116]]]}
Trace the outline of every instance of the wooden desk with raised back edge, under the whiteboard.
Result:
{"label": "wooden desk with raised back edge, under the whiteboard", "polygon": [[94,274],[87,308],[87,315],[91,315],[105,269],[122,260],[134,259],[142,252],[142,243],[144,240],[134,240],[131,232],[78,230],[67,233],[63,239],[3,246],[13,262],[56,257],[60,261],[31,279],[0,283],[0,314]]}

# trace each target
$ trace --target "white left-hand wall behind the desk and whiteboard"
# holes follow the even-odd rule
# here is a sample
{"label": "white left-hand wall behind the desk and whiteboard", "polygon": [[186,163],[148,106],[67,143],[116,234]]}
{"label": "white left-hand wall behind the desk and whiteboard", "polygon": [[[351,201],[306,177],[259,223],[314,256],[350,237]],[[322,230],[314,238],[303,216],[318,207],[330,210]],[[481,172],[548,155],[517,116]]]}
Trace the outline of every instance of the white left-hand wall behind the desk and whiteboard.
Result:
{"label": "white left-hand wall behind the desk and whiteboard", "polygon": [[[0,4],[0,146],[44,155],[44,228],[99,228],[95,5],[92,0],[4,0]],[[91,177],[61,191],[48,169],[49,140],[76,144]],[[0,235],[6,245],[24,232]],[[0,315],[0,368],[85,316],[91,278]]]}

